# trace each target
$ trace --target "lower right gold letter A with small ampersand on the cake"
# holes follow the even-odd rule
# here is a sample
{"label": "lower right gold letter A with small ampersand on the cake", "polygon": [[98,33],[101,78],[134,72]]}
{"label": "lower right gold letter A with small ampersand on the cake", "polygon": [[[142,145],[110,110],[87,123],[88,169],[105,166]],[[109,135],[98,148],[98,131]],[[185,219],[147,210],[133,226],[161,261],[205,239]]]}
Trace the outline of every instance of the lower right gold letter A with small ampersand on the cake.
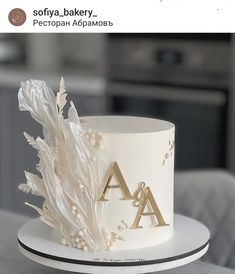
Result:
{"label": "lower right gold letter A with small ampersand on the cake", "polygon": [[[144,197],[142,200],[137,200],[139,209],[138,209],[137,215],[135,217],[135,221],[130,228],[131,229],[142,228],[142,226],[140,226],[139,223],[143,216],[155,216],[157,219],[157,222],[158,222],[156,224],[156,226],[167,226],[168,224],[166,224],[166,222],[164,221],[162,214],[157,206],[157,203],[153,197],[153,194],[152,194],[150,188],[149,187],[145,188],[144,183],[141,183],[140,187],[141,187],[141,189],[139,189],[139,191],[142,191],[144,193]],[[137,189],[137,191],[138,191],[138,189]],[[150,204],[150,206],[153,210],[152,212],[144,212],[147,203]]]}

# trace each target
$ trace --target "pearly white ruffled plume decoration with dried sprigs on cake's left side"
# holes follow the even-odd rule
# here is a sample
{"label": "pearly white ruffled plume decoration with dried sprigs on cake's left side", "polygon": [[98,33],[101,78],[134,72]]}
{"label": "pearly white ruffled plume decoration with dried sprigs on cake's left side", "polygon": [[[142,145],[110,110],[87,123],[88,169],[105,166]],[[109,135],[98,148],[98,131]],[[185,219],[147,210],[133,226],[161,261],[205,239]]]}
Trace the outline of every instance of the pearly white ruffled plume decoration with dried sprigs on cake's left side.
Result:
{"label": "pearly white ruffled plume decoration with dried sprigs on cake's left side", "polygon": [[19,108],[29,111],[43,126],[44,139],[35,140],[25,133],[28,143],[38,151],[37,170],[41,177],[26,172],[27,187],[19,188],[44,197],[41,209],[28,205],[37,210],[42,221],[59,230],[63,242],[74,246],[77,235],[83,242],[83,250],[105,250],[108,248],[103,227],[105,203],[97,202],[103,189],[102,155],[85,138],[72,102],[68,119],[64,119],[66,96],[63,78],[56,96],[43,81],[21,83]]}

